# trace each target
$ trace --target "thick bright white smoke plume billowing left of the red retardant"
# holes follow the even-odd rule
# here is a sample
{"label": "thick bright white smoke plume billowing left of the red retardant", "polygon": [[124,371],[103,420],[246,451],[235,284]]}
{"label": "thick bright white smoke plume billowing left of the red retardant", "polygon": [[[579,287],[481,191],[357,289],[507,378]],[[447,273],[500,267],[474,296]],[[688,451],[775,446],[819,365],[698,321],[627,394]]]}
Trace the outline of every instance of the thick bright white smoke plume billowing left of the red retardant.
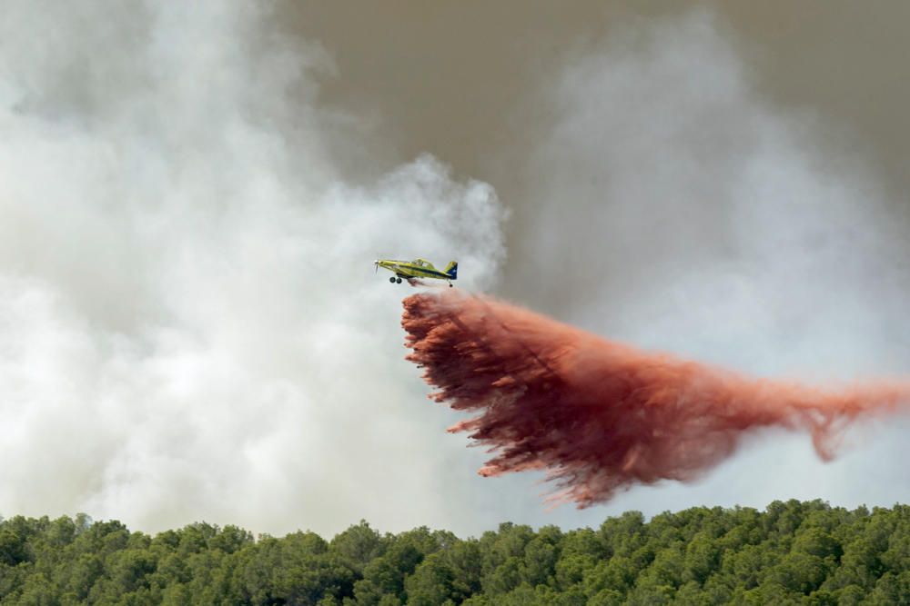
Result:
{"label": "thick bright white smoke plume billowing left of the red retardant", "polygon": [[0,514],[329,533],[458,507],[402,360],[410,288],[372,260],[489,283],[501,204],[430,156],[343,183],[331,65],[264,6],[5,3]]}

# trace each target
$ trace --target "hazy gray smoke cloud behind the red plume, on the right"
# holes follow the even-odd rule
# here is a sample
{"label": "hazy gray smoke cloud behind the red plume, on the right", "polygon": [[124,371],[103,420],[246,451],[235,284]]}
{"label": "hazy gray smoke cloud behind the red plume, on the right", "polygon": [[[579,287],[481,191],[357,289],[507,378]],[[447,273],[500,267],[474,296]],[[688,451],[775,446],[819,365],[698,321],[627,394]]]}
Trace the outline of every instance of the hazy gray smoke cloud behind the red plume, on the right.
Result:
{"label": "hazy gray smoke cloud behind the red plume, on the right", "polygon": [[[696,11],[616,25],[540,99],[552,124],[516,205],[512,298],[757,375],[908,373],[905,215],[875,167],[820,144],[817,116],[763,99],[723,22]],[[794,436],[762,433],[695,486],[637,490],[605,509],[891,504],[907,489],[907,429],[905,418],[868,425],[830,464]]]}

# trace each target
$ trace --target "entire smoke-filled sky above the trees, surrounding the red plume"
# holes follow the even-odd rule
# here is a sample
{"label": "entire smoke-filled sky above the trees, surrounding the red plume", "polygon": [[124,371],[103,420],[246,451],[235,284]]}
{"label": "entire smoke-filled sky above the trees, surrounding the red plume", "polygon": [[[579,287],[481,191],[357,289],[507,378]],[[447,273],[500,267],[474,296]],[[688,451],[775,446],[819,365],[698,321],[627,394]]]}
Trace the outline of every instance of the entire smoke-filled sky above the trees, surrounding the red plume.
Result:
{"label": "entire smoke-filled sky above the trees, surrounding the red plume", "polygon": [[466,536],[905,499],[900,416],[551,510],[444,431],[371,263],[759,376],[905,376],[904,3],[2,5],[0,515]]}

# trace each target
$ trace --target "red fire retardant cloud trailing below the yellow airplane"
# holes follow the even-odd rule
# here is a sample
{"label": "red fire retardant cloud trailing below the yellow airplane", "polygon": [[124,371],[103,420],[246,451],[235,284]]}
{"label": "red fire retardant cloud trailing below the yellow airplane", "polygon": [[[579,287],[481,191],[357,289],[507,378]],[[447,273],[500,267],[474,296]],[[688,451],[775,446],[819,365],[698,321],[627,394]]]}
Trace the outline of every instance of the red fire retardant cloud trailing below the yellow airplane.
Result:
{"label": "red fire retardant cloud trailing below the yellow airplane", "polygon": [[812,435],[824,460],[855,419],[894,411],[910,383],[838,392],[755,380],[647,353],[507,303],[458,292],[404,300],[408,360],[474,417],[450,428],[490,447],[484,476],[545,470],[579,507],[634,484],[687,481],[729,457],[745,432]]}

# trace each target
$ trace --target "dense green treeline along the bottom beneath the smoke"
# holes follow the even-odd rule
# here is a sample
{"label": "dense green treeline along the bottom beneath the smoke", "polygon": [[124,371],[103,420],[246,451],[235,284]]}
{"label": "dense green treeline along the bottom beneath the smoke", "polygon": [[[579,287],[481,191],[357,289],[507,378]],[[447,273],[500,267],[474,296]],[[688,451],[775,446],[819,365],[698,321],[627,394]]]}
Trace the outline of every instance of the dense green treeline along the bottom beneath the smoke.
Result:
{"label": "dense green treeline along the bottom beneath the smoke", "polygon": [[0,522],[0,604],[908,604],[910,506],[694,508],[478,539],[360,522],[326,541],[87,516]]}

